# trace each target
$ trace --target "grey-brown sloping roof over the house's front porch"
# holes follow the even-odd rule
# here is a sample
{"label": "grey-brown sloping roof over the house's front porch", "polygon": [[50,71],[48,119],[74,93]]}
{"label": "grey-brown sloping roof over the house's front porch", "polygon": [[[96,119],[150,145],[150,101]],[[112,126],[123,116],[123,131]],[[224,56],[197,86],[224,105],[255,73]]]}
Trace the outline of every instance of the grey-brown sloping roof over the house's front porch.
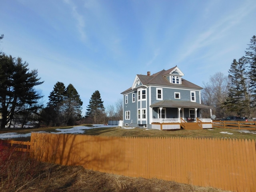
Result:
{"label": "grey-brown sloping roof over the house's front porch", "polygon": [[203,104],[199,104],[196,102],[191,101],[173,101],[173,100],[162,100],[155,104],[150,105],[151,108],[153,107],[173,107],[173,108],[203,108],[203,109],[212,109],[214,107],[207,106]]}

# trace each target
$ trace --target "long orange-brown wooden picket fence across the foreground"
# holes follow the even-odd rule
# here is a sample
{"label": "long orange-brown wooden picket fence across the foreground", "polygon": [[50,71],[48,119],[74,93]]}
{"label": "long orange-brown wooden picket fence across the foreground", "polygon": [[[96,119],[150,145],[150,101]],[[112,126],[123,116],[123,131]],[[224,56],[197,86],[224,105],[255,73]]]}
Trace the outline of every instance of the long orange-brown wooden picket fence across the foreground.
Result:
{"label": "long orange-brown wooden picket fence across the foreground", "polygon": [[31,134],[30,154],[112,174],[256,191],[255,140]]}

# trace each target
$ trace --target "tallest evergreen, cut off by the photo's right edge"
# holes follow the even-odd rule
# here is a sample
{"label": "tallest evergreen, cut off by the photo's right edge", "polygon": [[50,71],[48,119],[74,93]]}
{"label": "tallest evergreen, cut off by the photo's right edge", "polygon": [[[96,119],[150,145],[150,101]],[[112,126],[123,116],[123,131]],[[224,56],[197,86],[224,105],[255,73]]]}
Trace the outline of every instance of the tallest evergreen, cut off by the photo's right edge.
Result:
{"label": "tallest evergreen, cut off by the photo's right edge", "polygon": [[252,94],[251,106],[256,106],[256,36],[254,35],[251,40],[248,51],[245,52],[246,60],[249,66],[248,76],[250,79],[250,91]]}

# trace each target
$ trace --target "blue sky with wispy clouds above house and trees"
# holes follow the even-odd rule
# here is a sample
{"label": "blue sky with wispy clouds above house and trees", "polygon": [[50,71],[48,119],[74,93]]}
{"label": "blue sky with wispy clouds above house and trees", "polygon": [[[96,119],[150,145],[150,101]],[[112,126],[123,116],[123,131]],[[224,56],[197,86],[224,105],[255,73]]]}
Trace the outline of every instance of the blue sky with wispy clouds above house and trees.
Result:
{"label": "blue sky with wispy clouds above house and trees", "polygon": [[256,35],[255,0],[0,0],[0,18],[0,50],[38,70],[44,102],[71,83],[83,115],[93,92],[108,108],[136,74],[228,75]]}

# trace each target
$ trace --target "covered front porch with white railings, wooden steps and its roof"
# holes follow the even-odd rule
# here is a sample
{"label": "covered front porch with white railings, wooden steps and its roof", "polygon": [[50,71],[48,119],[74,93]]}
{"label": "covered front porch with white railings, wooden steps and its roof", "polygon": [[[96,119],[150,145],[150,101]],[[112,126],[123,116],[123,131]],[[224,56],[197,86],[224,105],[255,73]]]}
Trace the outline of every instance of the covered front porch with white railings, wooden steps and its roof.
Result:
{"label": "covered front porch with white railings, wooden steps and its roof", "polygon": [[[200,109],[209,109],[212,116],[211,106],[198,104],[190,101],[163,100],[152,104],[152,129],[204,129],[212,128],[211,118],[202,118]],[[172,116],[172,118],[170,118]]]}

